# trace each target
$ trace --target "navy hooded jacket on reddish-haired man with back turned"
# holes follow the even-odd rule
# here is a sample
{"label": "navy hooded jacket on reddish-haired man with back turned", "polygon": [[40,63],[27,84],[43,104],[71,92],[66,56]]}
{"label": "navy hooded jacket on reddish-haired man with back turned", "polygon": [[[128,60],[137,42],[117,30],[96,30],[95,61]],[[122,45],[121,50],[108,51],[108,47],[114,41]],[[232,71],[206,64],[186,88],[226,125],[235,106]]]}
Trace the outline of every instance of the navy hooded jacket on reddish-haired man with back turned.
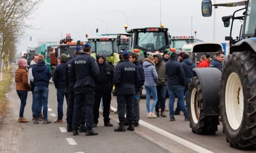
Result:
{"label": "navy hooded jacket on reddish-haired man with back turned", "polygon": [[44,61],[39,61],[32,68],[35,87],[48,87],[51,73]]}

